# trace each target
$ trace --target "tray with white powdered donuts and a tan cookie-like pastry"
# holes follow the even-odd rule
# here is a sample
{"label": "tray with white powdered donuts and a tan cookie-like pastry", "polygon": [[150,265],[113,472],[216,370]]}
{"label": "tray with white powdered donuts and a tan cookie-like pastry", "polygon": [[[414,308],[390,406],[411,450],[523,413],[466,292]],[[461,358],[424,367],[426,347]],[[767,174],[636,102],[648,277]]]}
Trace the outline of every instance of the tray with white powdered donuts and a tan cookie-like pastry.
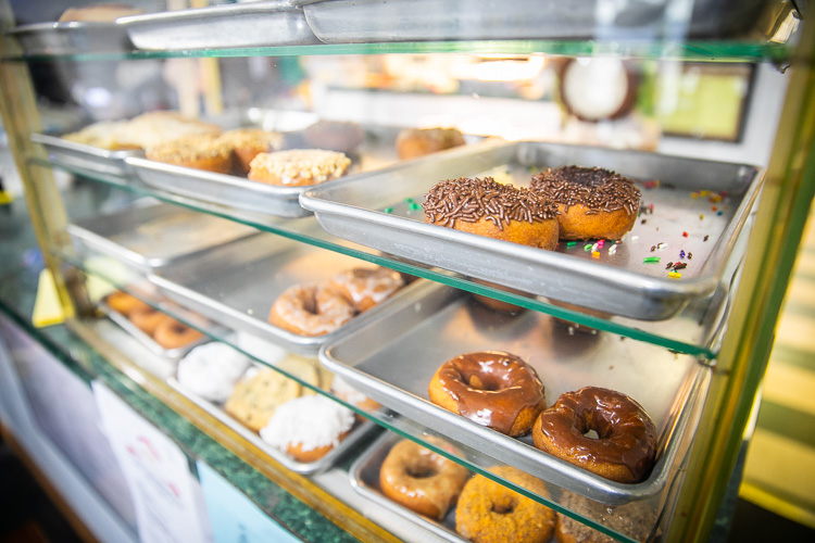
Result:
{"label": "tray with white powdered donuts and a tan cookie-like pastry", "polygon": [[[321,367],[316,358],[280,353],[272,369],[217,341],[192,349],[167,382],[203,411],[288,469],[323,471],[378,428],[349,407],[380,406]],[[291,377],[287,377],[283,370]]]}

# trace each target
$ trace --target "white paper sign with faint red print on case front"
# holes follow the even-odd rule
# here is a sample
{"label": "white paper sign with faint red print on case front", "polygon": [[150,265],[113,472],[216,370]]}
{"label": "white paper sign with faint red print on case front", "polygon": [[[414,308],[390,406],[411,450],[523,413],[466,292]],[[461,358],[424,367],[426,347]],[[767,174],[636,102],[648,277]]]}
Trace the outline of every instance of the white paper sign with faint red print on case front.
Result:
{"label": "white paper sign with faint red print on case front", "polygon": [[108,387],[91,384],[102,431],[130,490],[139,539],[145,543],[211,541],[187,456]]}

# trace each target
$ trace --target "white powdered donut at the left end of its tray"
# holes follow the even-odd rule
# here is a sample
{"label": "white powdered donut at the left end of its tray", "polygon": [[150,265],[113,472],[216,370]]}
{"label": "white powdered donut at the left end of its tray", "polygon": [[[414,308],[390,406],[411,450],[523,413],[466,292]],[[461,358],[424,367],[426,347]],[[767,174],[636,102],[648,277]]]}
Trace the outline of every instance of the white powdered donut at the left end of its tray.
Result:
{"label": "white powdered donut at the left end of its tray", "polygon": [[223,403],[250,364],[248,356],[225,343],[197,346],[178,362],[178,383],[211,402]]}

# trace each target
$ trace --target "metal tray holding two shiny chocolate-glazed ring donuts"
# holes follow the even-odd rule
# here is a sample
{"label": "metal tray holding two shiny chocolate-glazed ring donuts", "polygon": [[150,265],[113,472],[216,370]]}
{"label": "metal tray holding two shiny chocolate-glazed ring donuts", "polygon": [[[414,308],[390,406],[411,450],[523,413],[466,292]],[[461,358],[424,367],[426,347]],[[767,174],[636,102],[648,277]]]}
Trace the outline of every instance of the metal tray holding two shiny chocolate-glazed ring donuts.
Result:
{"label": "metal tray holding two shiny chocolate-glazed ring donuts", "polygon": [[[606,504],[666,488],[706,382],[691,356],[440,285],[327,343],[319,359],[411,420]],[[584,439],[592,430],[601,439]]]}

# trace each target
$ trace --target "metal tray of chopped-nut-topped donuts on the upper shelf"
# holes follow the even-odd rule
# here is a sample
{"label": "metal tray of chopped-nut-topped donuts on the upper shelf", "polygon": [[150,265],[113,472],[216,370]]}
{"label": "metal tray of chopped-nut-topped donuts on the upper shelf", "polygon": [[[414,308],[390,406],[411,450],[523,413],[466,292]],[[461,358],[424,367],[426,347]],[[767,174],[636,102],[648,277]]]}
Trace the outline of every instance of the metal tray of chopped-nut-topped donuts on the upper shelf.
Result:
{"label": "metal tray of chopped-nut-topped donuts on the upper shelf", "polygon": [[301,130],[239,128],[212,139],[188,138],[148,149],[127,164],[147,185],[239,210],[302,217],[309,187],[400,160],[477,143],[455,128],[400,129],[318,121]]}

